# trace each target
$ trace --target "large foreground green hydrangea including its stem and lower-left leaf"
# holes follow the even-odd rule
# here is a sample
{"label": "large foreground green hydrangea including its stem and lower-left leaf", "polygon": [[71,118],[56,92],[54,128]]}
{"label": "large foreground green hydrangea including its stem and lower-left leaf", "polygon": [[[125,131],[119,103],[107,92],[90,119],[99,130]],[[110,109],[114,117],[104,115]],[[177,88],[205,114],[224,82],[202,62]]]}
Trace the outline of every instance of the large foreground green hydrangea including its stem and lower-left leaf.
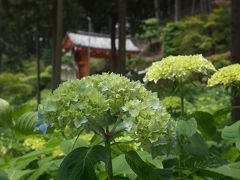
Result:
{"label": "large foreground green hydrangea including its stem and lower-left leaf", "polygon": [[[45,132],[49,125],[73,132],[86,127],[102,137],[105,148],[99,145],[90,147],[86,156],[91,156],[93,149],[106,152],[109,180],[113,179],[111,142],[115,138],[125,135],[150,149],[163,145],[166,150],[175,140],[175,123],[157,94],[146,90],[139,82],[116,74],[94,75],[60,85],[39,107],[36,129]],[[64,174],[68,166],[70,169],[76,166],[69,158],[84,152],[81,149],[72,151],[62,162],[59,176],[63,178],[61,173]],[[94,171],[91,163],[88,168]],[[77,167],[74,168],[76,170]]]}

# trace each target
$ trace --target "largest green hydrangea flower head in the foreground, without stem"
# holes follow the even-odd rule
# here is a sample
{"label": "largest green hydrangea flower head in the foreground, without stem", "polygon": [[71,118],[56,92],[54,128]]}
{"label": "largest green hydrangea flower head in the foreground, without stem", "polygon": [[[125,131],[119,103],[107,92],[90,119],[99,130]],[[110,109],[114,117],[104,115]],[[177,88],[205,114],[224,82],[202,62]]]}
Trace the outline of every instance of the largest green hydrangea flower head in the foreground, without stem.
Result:
{"label": "largest green hydrangea flower head in the foreground, without stem", "polygon": [[157,94],[113,73],[64,82],[39,111],[56,129],[76,130],[88,122],[104,128],[110,116],[113,124],[122,117],[118,128],[139,142],[169,142],[175,137],[175,123]]}

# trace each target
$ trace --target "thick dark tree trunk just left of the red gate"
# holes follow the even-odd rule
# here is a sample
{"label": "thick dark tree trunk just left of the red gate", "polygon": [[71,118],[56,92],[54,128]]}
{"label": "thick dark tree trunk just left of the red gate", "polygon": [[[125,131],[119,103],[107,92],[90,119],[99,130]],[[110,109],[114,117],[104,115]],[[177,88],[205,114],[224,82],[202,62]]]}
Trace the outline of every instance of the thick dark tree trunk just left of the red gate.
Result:
{"label": "thick dark tree trunk just left of the red gate", "polygon": [[63,21],[63,0],[56,2],[56,29],[53,35],[53,77],[52,77],[52,90],[55,90],[61,81],[61,45],[62,45],[62,21]]}

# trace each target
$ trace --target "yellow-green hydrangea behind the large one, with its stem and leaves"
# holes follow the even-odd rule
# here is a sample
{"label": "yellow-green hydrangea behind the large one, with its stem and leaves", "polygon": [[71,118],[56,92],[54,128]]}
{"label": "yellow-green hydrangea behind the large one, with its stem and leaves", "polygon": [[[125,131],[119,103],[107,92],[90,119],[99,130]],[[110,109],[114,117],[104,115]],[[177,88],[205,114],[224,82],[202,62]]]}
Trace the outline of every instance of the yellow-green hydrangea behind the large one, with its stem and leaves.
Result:
{"label": "yellow-green hydrangea behind the large one, with its stem and leaves", "polygon": [[[175,91],[178,91],[179,97],[165,98],[163,104],[177,122],[176,138],[177,147],[180,147],[177,149],[180,154],[180,166],[182,163],[181,156],[183,155],[184,157],[186,152],[199,157],[207,155],[207,144],[197,132],[197,121],[193,114],[188,114],[185,110],[184,85],[193,74],[208,75],[211,71],[216,71],[215,67],[202,55],[168,56],[161,61],[153,63],[144,78],[145,82],[154,81],[155,83],[160,79],[171,80],[174,82]],[[196,147],[194,145],[196,141],[203,143]]]}

